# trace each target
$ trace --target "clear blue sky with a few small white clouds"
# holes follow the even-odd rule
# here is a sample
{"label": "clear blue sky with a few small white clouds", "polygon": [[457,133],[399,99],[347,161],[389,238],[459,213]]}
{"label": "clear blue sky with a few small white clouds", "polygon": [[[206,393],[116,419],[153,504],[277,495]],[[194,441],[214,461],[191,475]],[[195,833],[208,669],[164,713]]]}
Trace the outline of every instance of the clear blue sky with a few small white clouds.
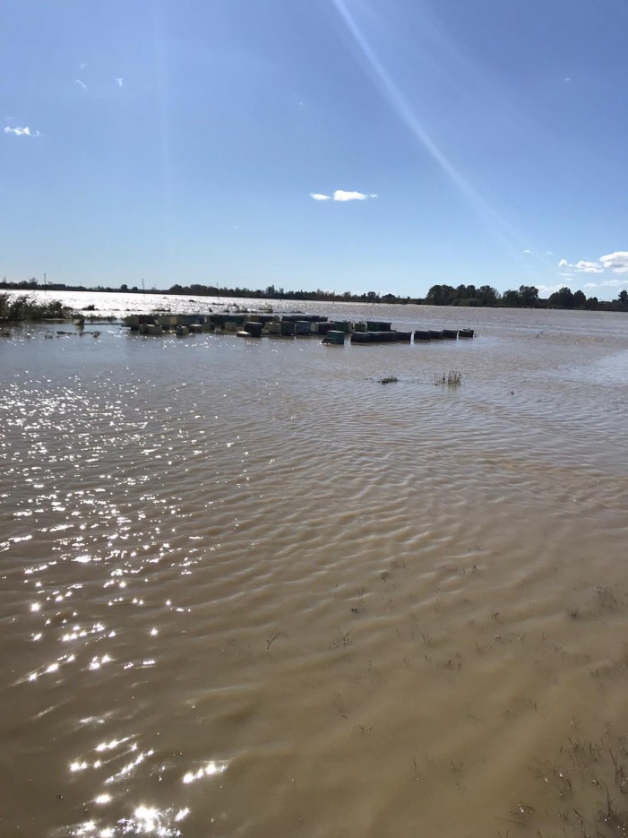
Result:
{"label": "clear blue sky with a few small white clouds", "polygon": [[0,275],[628,287],[624,0],[4,0]]}

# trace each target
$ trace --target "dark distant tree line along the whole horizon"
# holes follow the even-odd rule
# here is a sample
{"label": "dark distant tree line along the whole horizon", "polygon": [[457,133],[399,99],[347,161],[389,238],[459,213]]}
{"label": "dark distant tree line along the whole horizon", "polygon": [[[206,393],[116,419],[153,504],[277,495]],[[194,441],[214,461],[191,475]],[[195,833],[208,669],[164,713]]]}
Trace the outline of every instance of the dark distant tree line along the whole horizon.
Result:
{"label": "dark distant tree line along the whole horizon", "polygon": [[322,300],[348,303],[397,303],[405,305],[416,303],[426,306],[466,306],[466,307],[502,307],[502,308],[570,308],[589,311],[628,311],[628,290],[619,292],[616,299],[608,302],[598,300],[597,297],[587,297],[582,291],[572,291],[564,286],[555,291],[547,299],[538,297],[538,288],[534,285],[520,285],[519,289],[510,289],[500,294],[490,285],[433,285],[425,298],[398,297],[395,294],[380,295],[376,291],[365,291],[363,294],[352,294],[343,291],[316,289],[315,291],[290,291],[269,285],[265,289],[250,288],[220,288],[217,285],[173,285],[164,289],[129,288],[123,284],[119,288],[106,288],[101,285],[96,288],[85,288],[82,285],[65,285],[63,282],[47,282],[41,285],[36,279],[21,282],[0,282],[0,289],[34,290],[46,288],[51,291],[108,291],[117,293],[125,291],[134,294],[174,294],[178,297],[224,297],[224,298],[253,298],[253,299],[295,299]]}

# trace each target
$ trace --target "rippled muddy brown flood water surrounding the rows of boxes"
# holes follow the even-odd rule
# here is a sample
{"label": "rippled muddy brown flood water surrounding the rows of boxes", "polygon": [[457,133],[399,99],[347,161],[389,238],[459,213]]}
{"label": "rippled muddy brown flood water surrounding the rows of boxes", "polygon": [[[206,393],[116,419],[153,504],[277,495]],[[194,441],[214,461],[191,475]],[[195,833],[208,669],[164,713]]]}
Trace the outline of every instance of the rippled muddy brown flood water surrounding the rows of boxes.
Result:
{"label": "rippled muddy brown flood water surrounding the rows of boxes", "polygon": [[0,834],[625,834],[628,317],[301,308],[3,327]]}

